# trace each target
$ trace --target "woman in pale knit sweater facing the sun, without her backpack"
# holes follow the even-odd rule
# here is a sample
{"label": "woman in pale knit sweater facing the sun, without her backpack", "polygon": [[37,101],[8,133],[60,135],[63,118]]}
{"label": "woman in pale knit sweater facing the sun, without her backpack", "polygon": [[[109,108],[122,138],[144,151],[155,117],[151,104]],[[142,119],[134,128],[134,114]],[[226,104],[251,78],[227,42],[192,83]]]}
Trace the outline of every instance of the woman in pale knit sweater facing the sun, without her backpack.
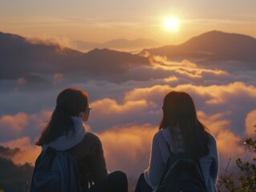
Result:
{"label": "woman in pale knit sweater facing the sun, without her backpack", "polygon": [[149,166],[140,175],[136,192],[156,189],[171,155],[169,150],[173,154],[183,152],[199,159],[207,191],[217,191],[216,140],[198,120],[193,99],[185,92],[170,91],[165,95],[162,110],[159,131],[152,140]]}

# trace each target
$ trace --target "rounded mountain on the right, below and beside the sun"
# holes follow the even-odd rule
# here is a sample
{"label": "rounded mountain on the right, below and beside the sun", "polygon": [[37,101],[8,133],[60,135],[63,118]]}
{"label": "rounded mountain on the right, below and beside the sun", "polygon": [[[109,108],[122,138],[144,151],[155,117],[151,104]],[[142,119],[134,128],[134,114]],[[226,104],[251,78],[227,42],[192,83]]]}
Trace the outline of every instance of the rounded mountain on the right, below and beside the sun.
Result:
{"label": "rounded mountain on the right, below and beside the sun", "polygon": [[140,54],[165,55],[168,58],[206,58],[209,60],[256,61],[256,39],[243,34],[213,30],[190,38],[179,46],[145,49]]}

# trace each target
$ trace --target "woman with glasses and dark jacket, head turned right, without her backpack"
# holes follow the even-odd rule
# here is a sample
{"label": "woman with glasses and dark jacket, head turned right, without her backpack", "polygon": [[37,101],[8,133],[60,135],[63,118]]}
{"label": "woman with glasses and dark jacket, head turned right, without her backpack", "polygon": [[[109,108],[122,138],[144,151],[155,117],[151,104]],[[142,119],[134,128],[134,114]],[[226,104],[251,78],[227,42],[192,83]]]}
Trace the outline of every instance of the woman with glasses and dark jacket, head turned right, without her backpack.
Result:
{"label": "woman with glasses and dark jacket, head turned right, without her backpack", "polygon": [[[126,174],[108,174],[104,150],[95,134],[87,132],[83,122],[90,114],[89,96],[78,88],[67,88],[57,98],[51,120],[39,137],[38,146],[68,150],[75,154],[80,185],[85,191],[128,191]],[[94,183],[89,189],[89,182]]]}

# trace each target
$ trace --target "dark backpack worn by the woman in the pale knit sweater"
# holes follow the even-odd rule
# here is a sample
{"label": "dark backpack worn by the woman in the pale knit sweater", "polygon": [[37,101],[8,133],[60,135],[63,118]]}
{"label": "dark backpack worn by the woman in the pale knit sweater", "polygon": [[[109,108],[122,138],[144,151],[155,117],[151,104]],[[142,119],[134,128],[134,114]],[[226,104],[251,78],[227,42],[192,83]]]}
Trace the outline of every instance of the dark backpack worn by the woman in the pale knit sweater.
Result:
{"label": "dark backpack worn by the woman in the pale knit sweater", "polygon": [[[169,150],[170,151],[170,150]],[[165,170],[155,192],[206,192],[199,160],[188,154],[170,151]]]}

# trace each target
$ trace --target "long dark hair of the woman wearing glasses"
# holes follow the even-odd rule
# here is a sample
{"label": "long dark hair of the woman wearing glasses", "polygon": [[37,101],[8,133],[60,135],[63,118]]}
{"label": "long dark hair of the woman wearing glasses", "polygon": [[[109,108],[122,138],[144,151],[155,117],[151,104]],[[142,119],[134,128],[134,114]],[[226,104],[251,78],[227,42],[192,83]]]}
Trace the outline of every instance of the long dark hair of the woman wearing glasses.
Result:
{"label": "long dark hair of the woman wearing glasses", "polygon": [[78,116],[80,112],[86,110],[88,98],[88,94],[78,88],[71,87],[63,90],[57,97],[55,110],[36,145],[43,146],[60,135],[67,135],[69,130],[75,134],[71,116]]}

